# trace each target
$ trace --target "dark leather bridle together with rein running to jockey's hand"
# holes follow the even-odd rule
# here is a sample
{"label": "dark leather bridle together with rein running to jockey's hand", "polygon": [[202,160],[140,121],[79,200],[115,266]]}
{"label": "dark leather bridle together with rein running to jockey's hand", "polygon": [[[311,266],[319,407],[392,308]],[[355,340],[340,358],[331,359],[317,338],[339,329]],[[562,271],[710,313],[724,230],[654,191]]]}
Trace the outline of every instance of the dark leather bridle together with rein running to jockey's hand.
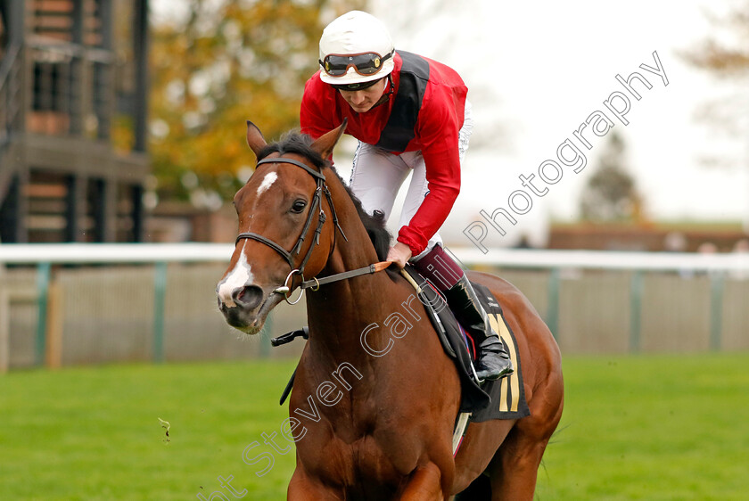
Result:
{"label": "dark leather bridle together with rein running to jockey's hand", "polygon": [[[301,229],[301,234],[299,237],[299,240],[294,244],[292,250],[285,250],[283,247],[278,245],[276,242],[273,242],[269,238],[261,235],[256,234],[252,232],[243,232],[236,236],[235,240],[235,246],[237,243],[239,243],[243,239],[248,240],[255,240],[260,243],[264,243],[268,245],[273,250],[276,250],[278,254],[281,255],[282,258],[286,260],[286,262],[289,264],[289,267],[291,268],[291,273],[286,276],[286,280],[284,281],[284,285],[281,287],[276,288],[273,292],[276,294],[284,294],[284,298],[287,303],[289,304],[296,304],[301,299],[301,294],[299,297],[291,301],[289,300],[289,294],[292,292],[292,287],[289,285],[289,279],[292,279],[293,284],[293,275],[300,275],[301,277],[301,284],[300,289],[303,291],[304,289],[310,289],[311,291],[317,291],[320,288],[320,285],[325,285],[325,283],[333,283],[333,282],[339,282],[341,280],[347,280],[349,278],[353,278],[354,276],[359,275],[370,275],[377,273],[378,271],[382,271],[386,267],[389,267],[391,265],[390,261],[381,261],[379,263],[374,263],[372,265],[369,265],[368,267],[360,267],[354,270],[350,271],[344,271],[342,273],[338,273],[335,275],[325,276],[324,278],[317,279],[317,277],[313,277],[312,280],[304,280],[304,267],[307,266],[307,261],[309,261],[309,258],[312,256],[312,251],[315,250],[315,245],[320,244],[320,233],[323,231],[323,225],[325,224],[326,216],[325,211],[323,210],[322,205],[322,197],[323,193],[325,193],[325,198],[328,201],[328,205],[330,206],[331,213],[333,214],[333,224],[338,229],[338,231],[341,232],[341,235],[343,239],[346,242],[349,242],[349,239],[346,237],[346,234],[343,233],[343,230],[341,228],[341,225],[338,223],[338,217],[335,214],[335,207],[333,206],[333,199],[331,198],[330,190],[328,190],[327,185],[325,185],[325,175],[321,172],[317,172],[314,168],[309,168],[309,166],[301,163],[300,161],[293,160],[293,159],[284,159],[281,157],[272,158],[272,159],[263,159],[258,162],[258,166],[264,163],[288,163],[292,164],[296,167],[303,168],[307,173],[315,178],[315,181],[317,182],[317,188],[315,189],[315,195],[312,197],[312,203],[309,208],[309,215],[307,216],[307,220],[304,222],[304,226]],[[257,168],[257,166],[256,166]],[[304,258],[301,260],[300,266],[295,267],[294,265],[294,256],[299,255],[301,252],[301,247],[304,244],[304,239],[307,237],[307,234],[309,232],[309,227],[312,225],[312,218],[314,217],[315,209],[319,209],[319,215],[317,217],[317,227],[315,228],[315,234],[313,235],[313,239],[315,240],[314,244],[309,246],[309,250],[307,251],[307,254],[304,256]],[[335,230],[333,230],[333,239],[335,238]],[[333,248],[335,248],[335,240],[333,240]],[[332,251],[332,250],[331,250]]]}

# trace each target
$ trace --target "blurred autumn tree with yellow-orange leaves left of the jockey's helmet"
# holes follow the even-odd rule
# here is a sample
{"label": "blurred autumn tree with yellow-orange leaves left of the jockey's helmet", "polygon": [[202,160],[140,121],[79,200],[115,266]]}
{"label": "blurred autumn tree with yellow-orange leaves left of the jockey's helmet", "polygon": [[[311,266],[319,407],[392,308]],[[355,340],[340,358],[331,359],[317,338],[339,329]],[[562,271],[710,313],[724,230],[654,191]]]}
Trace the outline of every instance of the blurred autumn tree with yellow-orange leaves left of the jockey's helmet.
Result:
{"label": "blurred autumn tree with yellow-orange leaves left of the jockey's helmet", "polygon": [[[152,29],[150,152],[161,199],[218,209],[254,167],[245,120],[299,127],[325,25],[363,0],[191,0]],[[183,6],[184,4],[180,4]]]}

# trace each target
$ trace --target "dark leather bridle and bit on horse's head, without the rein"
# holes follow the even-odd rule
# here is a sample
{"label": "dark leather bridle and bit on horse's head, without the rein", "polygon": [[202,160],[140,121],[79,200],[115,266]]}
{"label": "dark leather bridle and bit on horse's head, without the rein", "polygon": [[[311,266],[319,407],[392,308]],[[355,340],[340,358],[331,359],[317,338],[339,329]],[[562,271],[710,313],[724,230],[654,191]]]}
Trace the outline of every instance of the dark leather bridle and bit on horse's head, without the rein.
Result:
{"label": "dark leather bridle and bit on horse's head, without the rein", "polygon": [[[241,234],[238,234],[236,237],[235,245],[239,243],[240,240],[243,239],[249,239],[249,240],[256,240],[258,242],[264,243],[268,245],[273,250],[276,250],[278,254],[283,257],[287,263],[289,263],[289,267],[291,267],[291,273],[286,276],[286,281],[284,282],[283,287],[278,287],[274,292],[279,294],[284,294],[286,301],[290,304],[296,304],[300,298],[297,298],[295,301],[289,301],[289,292],[292,290],[292,286],[289,284],[289,279],[292,279],[293,284],[293,275],[299,274],[301,276],[301,288],[307,289],[309,287],[315,286],[315,289],[317,290],[317,286],[319,286],[320,282],[317,281],[317,279],[314,279],[309,282],[304,282],[304,267],[307,266],[307,261],[309,261],[309,258],[312,256],[312,251],[315,250],[315,246],[319,245],[320,243],[320,233],[323,231],[323,225],[325,224],[325,211],[322,207],[322,198],[323,194],[325,194],[325,198],[328,201],[328,205],[330,206],[330,211],[333,215],[333,224],[336,228],[338,228],[338,231],[341,232],[341,235],[346,242],[349,241],[348,238],[346,238],[346,234],[343,233],[343,230],[341,229],[341,225],[338,224],[338,217],[335,214],[335,207],[333,206],[333,200],[331,199],[330,190],[328,190],[327,185],[325,185],[325,175],[321,172],[317,172],[314,168],[309,168],[309,166],[301,163],[297,160],[292,159],[284,159],[282,157],[276,157],[272,159],[263,159],[258,162],[258,167],[264,163],[289,163],[292,165],[295,165],[296,167],[303,168],[307,171],[307,173],[315,178],[315,181],[317,183],[317,188],[315,189],[315,194],[312,197],[312,203],[309,207],[309,215],[307,216],[307,220],[304,222],[304,226],[301,229],[301,234],[299,236],[299,240],[297,240],[296,244],[293,246],[292,250],[285,250],[283,247],[278,245],[276,242],[273,242],[269,238],[261,235],[256,234],[252,232],[243,232]],[[309,245],[309,250],[307,250],[307,254],[304,256],[303,259],[301,259],[301,263],[299,267],[297,267],[294,264],[294,257],[299,255],[301,252],[301,248],[304,244],[304,239],[307,237],[307,234],[309,232],[309,227],[312,225],[312,218],[315,216],[315,210],[319,209],[318,217],[317,217],[317,227],[315,228],[315,234],[313,235],[313,239],[315,242]],[[334,233],[335,230],[333,229],[333,248],[335,247],[335,240],[334,240]],[[331,249],[331,252],[333,251],[333,248]],[[325,279],[323,279],[325,280]]]}

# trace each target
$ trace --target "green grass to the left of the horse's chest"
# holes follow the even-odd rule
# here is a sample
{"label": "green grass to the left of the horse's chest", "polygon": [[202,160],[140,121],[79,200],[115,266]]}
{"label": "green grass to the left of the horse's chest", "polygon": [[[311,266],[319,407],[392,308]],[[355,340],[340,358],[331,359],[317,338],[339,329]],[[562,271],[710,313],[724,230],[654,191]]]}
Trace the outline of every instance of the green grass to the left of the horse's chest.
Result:
{"label": "green grass to the left of the horse's chest", "polygon": [[[231,480],[247,499],[284,498],[293,452],[262,464],[243,449],[287,417],[293,363],[133,365],[0,377],[4,499],[196,499]],[[159,419],[168,421],[166,430]],[[283,440],[283,439],[282,439]],[[250,458],[257,456],[252,454]],[[226,492],[226,491],[225,491]],[[231,496],[230,496],[231,497]],[[216,499],[216,497],[214,497]]]}

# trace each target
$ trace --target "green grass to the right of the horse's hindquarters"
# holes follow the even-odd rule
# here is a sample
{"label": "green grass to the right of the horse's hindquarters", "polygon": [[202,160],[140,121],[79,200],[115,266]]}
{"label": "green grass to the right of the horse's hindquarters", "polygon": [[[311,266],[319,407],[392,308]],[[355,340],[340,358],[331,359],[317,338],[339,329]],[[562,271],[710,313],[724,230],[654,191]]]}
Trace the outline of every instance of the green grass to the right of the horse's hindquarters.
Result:
{"label": "green grass to the right of the horse's hindquarters", "polygon": [[746,499],[749,357],[564,361],[539,499]]}

